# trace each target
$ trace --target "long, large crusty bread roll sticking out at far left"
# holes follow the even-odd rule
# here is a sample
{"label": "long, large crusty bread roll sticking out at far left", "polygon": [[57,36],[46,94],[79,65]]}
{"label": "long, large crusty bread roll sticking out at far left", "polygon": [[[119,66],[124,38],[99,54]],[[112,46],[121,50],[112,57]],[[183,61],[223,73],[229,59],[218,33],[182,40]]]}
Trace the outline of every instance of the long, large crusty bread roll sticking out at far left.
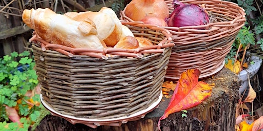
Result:
{"label": "long, large crusty bread roll sticking out at far left", "polygon": [[72,48],[104,49],[90,21],[76,21],[52,10],[31,9],[22,13],[24,23],[50,43]]}

